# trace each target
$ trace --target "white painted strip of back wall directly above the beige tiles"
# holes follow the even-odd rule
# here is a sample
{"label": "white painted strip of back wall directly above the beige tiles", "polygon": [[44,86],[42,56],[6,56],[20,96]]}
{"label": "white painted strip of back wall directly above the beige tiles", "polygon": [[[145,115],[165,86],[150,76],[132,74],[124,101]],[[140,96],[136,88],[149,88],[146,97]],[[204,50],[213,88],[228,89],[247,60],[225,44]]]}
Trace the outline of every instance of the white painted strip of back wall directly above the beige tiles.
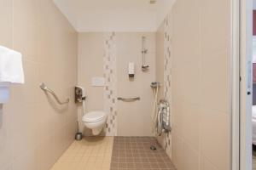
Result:
{"label": "white painted strip of back wall directly above the beige tiles", "polygon": [[86,10],[77,31],[155,31],[154,11],[136,9]]}

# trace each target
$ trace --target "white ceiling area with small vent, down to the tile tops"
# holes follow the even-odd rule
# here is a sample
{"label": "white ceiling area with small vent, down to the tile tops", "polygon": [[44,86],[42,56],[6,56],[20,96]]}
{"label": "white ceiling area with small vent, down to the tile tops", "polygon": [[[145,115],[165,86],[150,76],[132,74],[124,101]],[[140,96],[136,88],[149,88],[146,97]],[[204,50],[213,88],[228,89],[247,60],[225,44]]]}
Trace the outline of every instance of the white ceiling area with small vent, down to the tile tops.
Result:
{"label": "white ceiling area with small vent, down to the tile tops", "polygon": [[79,31],[156,31],[174,0],[54,0]]}

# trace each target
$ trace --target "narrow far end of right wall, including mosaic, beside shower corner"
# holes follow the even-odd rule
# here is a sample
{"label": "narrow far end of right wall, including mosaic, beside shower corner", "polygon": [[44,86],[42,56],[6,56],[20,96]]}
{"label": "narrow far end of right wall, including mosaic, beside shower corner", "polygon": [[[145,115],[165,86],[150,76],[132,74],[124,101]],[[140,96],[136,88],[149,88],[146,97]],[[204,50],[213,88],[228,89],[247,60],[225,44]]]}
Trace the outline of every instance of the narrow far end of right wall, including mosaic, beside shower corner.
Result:
{"label": "narrow far end of right wall, including mosaic, beside shower corner", "polygon": [[[172,20],[171,15],[168,14],[163,21],[159,30],[157,31],[157,80],[162,83],[160,87],[160,99],[166,99],[170,105],[170,113],[172,113]],[[172,123],[172,114],[170,117]],[[171,124],[172,127],[172,124]],[[168,156],[172,158],[172,133],[162,133],[158,137],[159,143],[166,150]]]}

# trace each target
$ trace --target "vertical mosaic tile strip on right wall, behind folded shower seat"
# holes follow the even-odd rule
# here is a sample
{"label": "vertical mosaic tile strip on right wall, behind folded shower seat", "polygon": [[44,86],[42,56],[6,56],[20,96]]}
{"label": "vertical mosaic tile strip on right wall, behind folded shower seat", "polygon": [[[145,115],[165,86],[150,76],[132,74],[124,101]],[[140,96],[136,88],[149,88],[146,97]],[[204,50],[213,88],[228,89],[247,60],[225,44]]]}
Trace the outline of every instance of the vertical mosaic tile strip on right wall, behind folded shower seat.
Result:
{"label": "vertical mosaic tile strip on right wall, behind folded shower seat", "polygon": [[[171,111],[171,127],[172,127],[172,28],[171,16],[167,14],[165,19],[164,32],[164,96],[169,102]],[[171,133],[164,134],[164,149],[168,156],[172,157],[172,139]]]}

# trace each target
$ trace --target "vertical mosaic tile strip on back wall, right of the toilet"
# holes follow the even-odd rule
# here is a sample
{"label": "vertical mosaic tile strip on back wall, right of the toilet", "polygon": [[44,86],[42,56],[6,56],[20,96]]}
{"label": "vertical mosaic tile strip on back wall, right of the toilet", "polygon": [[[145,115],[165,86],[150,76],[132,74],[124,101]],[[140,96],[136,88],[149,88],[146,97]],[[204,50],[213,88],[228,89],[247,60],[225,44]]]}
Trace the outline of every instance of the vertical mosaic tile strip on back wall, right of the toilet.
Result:
{"label": "vertical mosaic tile strip on back wall, right of the toilet", "polygon": [[117,49],[116,34],[114,32],[105,33],[104,47],[103,70],[106,80],[106,86],[104,88],[104,111],[108,113],[105,133],[107,136],[115,136],[117,135]]}

